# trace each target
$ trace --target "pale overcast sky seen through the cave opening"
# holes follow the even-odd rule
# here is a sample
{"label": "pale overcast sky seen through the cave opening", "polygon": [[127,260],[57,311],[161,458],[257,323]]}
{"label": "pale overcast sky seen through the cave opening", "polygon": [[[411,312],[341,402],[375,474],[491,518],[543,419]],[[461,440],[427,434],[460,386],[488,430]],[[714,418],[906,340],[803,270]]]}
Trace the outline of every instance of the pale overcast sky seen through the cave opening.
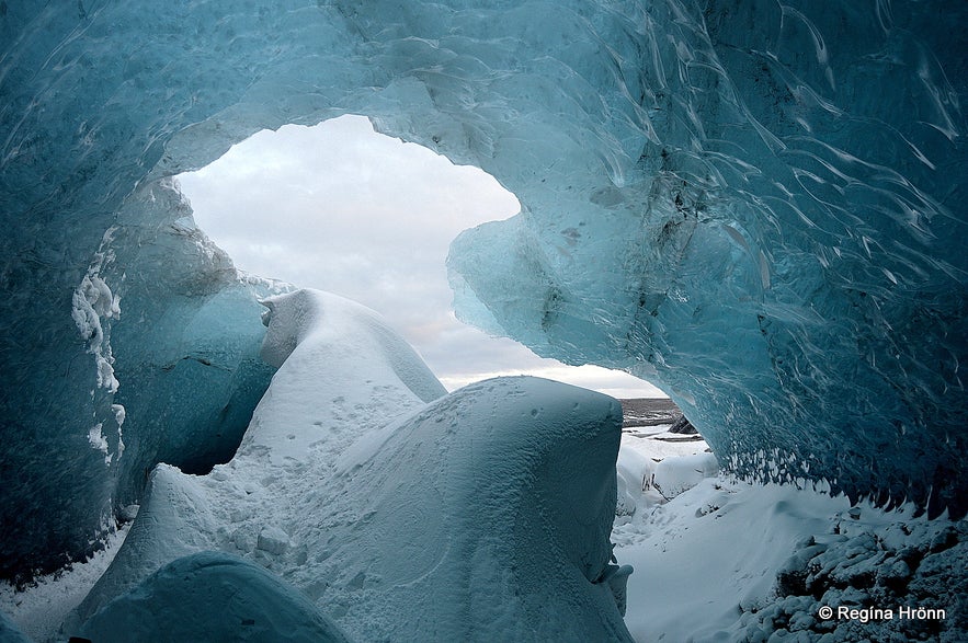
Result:
{"label": "pale overcast sky seen through the cave opening", "polygon": [[454,317],[445,260],[462,230],[517,213],[477,168],[373,131],[360,116],[261,131],[179,176],[195,221],[236,266],[373,308],[454,390],[527,374],[616,398],[664,394],[623,372],[565,366]]}

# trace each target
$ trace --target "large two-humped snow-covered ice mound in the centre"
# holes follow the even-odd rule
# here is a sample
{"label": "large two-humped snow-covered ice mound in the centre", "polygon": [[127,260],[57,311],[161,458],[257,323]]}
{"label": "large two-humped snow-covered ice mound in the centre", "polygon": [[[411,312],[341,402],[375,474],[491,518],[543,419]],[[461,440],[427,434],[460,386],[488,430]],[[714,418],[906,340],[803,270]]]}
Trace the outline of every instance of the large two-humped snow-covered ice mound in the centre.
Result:
{"label": "large two-humped snow-covered ice mound in the centre", "polygon": [[265,352],[288,357],[239,452],[205,476],[155,470],[66,634],[100,640],[151,593],[163,610],[171,561],[220,550],[358,641],[630,640],[630,569],[610,562],[615,400],[535,378],[444,395],[372,311],[332,295],[275,298],[269,324]]}

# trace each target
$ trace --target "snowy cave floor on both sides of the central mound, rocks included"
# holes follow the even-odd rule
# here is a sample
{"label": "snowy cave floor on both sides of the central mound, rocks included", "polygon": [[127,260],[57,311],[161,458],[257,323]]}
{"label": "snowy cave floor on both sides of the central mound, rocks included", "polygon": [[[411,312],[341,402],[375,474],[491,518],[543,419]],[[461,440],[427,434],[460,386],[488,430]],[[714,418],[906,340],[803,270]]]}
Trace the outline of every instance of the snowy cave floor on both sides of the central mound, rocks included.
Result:
{"label": "snowy cave floor on both sides of the central mound, rocks included", "polygon": [[[625,620],[637,641],[774,641],[788,631],[794,641],[964,634],[964,520],[852,506],[812,486],[729,480],[709,469],[705,441],[667,428],[626,429],[618,458],[612,539],[618,562],[635,567]],[[662,483],[670,480],[694,486],[667,500]],[[56,640],[126,533],[34,587],[0,588],[0,610],[35,641]],[[823,619],[824,607],[832,618]]]}

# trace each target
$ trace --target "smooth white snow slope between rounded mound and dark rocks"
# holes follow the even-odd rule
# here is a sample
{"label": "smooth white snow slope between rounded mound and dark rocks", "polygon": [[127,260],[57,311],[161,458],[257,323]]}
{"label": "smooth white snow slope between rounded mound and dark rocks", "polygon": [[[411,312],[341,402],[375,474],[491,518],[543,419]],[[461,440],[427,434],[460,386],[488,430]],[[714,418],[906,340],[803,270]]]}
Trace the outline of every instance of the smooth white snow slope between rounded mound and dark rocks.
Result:
{"label": "smooth white snow slope between rounded mound and dark rocks", "polygon": [[[764,598],[795,544],[822,532],[844,498],[793,486],[699,482],[616,525],[615,555],[631,564],[625,622],[636,641],[702,641]],[[755,535],[755,536],[753,536]]]}

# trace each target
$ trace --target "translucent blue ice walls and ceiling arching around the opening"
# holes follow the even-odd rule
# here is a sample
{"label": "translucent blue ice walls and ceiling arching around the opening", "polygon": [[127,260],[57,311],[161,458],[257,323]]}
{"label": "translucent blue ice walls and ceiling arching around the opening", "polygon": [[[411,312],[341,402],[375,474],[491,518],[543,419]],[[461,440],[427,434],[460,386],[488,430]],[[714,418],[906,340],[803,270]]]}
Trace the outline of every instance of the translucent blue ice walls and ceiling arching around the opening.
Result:
{"label": "translucent blue ice walls and ceiling arching around the opening", "polygon": [[88,550],[156,462],[230,457],[272,288],[166,180],[344,113],[521,200],[452,248],[464,319],[662,383],[743,475],[964,514],[966,14],[0,2],[2,575]]}

